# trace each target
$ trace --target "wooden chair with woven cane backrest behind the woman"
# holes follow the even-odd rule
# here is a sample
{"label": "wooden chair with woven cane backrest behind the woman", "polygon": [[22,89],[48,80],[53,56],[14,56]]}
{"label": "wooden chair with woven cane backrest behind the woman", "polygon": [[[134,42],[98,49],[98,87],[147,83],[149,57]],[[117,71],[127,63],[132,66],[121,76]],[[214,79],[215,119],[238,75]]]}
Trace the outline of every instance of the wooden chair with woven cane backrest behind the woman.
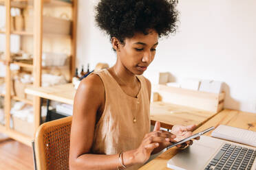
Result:
{"label": "wooden chair with woven cane backrest behind the woman", "polygon": [[72,117],[49,121],[39,126],[34,141],[36,169],[69,169]]}

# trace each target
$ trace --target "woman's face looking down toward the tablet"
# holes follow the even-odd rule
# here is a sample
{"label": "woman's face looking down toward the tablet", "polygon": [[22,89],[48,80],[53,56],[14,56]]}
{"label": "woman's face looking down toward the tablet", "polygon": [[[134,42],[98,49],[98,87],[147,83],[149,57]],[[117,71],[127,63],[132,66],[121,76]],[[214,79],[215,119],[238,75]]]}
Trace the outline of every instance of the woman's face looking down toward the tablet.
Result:
{"label": "woman's face looking down toward the tablet", "polygon": [[155,58],[157,45],[158,33],[154,29],[147,35],[136,33],[125,39],[125,45],[119,45],[118,64],[135,75],[142,75]]}

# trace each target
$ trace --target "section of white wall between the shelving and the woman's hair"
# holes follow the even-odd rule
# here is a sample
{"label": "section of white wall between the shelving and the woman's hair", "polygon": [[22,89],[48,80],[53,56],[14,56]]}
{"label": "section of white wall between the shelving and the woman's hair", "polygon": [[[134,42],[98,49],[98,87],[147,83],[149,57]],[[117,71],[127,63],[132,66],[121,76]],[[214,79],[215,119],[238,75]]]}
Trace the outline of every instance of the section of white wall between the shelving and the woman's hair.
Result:
{"label": "section of white wall between the shelving and the woman's hair", "polygon": [[79,69],[82,64],[89,63],[94,68],[98,62],[112,65],[116,60],[108,36],[100,32],[94,23],[94,6],[97,2],[98,0],[78,1],[76,66]]}

